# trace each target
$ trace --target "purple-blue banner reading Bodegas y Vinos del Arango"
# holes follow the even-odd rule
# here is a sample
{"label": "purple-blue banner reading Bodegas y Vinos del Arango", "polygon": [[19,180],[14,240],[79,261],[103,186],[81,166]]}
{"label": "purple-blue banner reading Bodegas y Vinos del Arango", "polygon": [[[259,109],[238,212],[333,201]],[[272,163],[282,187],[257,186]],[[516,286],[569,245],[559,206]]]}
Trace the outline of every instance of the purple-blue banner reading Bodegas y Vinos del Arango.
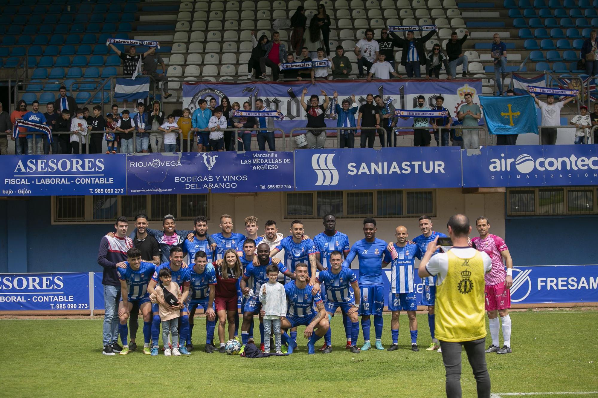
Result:
{"label": "purple-blue banner reading Bodegas y Vinos del Arango", "polygon": [[184,152],[127,156],[127,193],[291,191],[293,152]]}

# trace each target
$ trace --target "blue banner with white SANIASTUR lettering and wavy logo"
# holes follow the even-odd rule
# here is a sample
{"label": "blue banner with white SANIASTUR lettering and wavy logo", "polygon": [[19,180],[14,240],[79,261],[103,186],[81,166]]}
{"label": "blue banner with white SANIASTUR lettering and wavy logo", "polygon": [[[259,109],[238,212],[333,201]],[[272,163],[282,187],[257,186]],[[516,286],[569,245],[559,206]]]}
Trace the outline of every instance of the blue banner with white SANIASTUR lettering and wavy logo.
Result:
{"label": "blue banner with white SANIASTUR lettering and wavy logo", "polygon": [[295,151],[295,189],[448,188],[460,186],[460,149],[369,148]]}

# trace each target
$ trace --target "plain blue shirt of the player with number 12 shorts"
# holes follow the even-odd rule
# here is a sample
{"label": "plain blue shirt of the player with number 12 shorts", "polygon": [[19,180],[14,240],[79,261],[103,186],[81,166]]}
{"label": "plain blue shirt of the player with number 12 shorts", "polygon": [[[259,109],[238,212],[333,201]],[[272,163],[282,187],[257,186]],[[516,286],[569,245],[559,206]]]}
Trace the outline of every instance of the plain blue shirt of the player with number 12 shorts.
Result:
{"label": "plain blue shirt of the player with number 12 shorts", "polygon": [[386,250],[386,241],[376,238],[373,242],[362,239],[351,246],[349,255],[343,262],[343,267],[349,268],[351,262],[357,256],[359,260],[359,285],[362,284],[383,284],[382,260]]}

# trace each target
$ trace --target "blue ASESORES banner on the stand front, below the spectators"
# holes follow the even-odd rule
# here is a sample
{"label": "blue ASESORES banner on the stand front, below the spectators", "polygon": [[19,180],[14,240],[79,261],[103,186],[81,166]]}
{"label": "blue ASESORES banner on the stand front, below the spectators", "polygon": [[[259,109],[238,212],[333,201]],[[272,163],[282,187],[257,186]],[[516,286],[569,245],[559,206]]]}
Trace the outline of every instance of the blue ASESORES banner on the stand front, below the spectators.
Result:
{"label": "blue ASESORES banner on the stand front, below the spectators", "polygon": [[0,157],[2,196],[124,194],[126,155]]}

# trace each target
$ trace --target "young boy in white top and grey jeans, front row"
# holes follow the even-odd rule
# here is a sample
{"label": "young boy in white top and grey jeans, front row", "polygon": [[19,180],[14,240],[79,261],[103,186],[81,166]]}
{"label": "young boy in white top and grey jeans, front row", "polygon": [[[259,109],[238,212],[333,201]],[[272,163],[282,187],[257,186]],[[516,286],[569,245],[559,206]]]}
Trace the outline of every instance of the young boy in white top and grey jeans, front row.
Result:
{"label": "young boy in white top and grey jeans, front row", "polygon": [[268,283],[260,289],[260,302],[264,311],[264,353],[270,353],[270,335],[274,330],[276,353],[280,351],[280,317],[286,316],[285,286],[278,283],[278,267],[270,264],[266,267]]}

